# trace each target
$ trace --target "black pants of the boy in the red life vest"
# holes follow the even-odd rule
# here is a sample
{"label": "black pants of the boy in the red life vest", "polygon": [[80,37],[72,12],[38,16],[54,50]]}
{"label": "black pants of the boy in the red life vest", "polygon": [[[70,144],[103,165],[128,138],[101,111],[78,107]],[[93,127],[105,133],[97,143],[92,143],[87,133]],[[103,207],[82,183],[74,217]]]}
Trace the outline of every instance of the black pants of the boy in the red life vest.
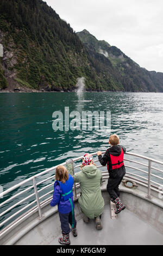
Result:
{"label": "black pants of the boy in the red life vest", "polygon": [[117,176],[116,178],[113,178],[110,176],[108,179],[108,184],[106,186],[106,189],[109,192],[110,197],[114,200],[120,196],[120,190],[118,186],[120,185],[123,179],[123,176],[124,174],[122,176]]}

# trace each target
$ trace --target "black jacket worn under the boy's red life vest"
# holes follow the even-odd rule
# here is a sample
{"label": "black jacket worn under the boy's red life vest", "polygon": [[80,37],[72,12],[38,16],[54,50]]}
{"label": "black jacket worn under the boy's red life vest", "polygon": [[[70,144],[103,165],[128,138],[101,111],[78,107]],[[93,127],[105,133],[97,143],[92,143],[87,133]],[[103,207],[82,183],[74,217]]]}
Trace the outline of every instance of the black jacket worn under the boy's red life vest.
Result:
{"label": "black jacket worn under the boy's red life vest", "polygon": [[[109,173],[112,173],[111,159],[110,159],[109,153],[113,156],[120,156],[121,148],[123,149],[123,153],[125,153],[126,148],[122,147],[121,145],[115,145],[115,146],[112,146],[109,149],[107,149],[105,154],[103,155],[103,157],[102,157],[102,155],[98,156],[98,160],[99,160],[99,162],[101,163],[102,166],[105,166],[106,163],[109,162]],[[125,171],[124,166],[122,166],[121,168],[124,169],[124,171]],[[117,169],[114,169],[114,172],[116,172],[116,170]]]}

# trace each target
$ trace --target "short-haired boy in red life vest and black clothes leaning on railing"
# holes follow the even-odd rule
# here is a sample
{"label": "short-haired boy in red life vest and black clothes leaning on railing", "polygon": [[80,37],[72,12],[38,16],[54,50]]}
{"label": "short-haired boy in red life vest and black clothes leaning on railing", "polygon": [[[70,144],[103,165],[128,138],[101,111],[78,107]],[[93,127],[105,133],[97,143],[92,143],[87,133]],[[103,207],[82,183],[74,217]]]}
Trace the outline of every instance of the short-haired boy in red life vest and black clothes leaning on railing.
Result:
{"label": "short-haired boy in red life vest and black clothes leaning on railing", "polygon": [[126,174],[126,169],[123,163],[123,155],[126,152],[126,148],[118,145],[119,143],[119,137],[116,134],[113,134],[109,137],[109,144],[111,147],[106,150],[103,157],[101,151],[97,152],[98,160],[102,166],[107,164],[109,179],[106,188],[109,192],[110,200],[116,204],[115,214],[118,214],[126,208],[119,198],[120,190],[118,188],[123,176]]}

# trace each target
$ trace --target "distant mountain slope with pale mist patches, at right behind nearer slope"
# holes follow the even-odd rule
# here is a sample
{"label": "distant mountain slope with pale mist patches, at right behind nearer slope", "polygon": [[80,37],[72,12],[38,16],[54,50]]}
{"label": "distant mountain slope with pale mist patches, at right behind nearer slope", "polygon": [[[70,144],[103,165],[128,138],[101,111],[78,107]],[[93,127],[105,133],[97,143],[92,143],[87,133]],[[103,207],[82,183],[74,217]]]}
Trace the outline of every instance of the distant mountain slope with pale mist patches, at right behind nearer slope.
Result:
{"label": "distant mountain slope with pale mist patches, at right behind nearer slope", "polygon": [[118,81],[123,84],[126,91],[134,92],[163,92],[163,74],[161,72],[147,71],[127,57],[120,49],[110,46],[108,42],[98,41],[86,29],[78,32],[80,40],[92,54],[103,54],[110,60],[114,69],[121,74]]}

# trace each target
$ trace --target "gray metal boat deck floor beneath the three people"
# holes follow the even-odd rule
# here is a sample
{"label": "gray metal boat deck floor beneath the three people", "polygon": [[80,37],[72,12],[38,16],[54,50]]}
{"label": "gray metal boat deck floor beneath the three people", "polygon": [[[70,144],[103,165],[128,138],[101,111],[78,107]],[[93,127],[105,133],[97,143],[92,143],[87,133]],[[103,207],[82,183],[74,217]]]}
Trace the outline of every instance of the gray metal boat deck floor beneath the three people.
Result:
{"label": "gray metal boat deck floor beneath the three people", "polygon": [[[128,209],[114,220],[110,216],[110,205],[106,204],[101,221],[103,229],[96,230],[94,220],[84,223],[80,217],[77,221],[78,236],[73,237],[70,233],[71,245],[163,245],[163,235]],[[59,216],[53,215],[51,223],[41,222],[37,229],[31,230],[15,245],[60,245],[60,235]]]}

